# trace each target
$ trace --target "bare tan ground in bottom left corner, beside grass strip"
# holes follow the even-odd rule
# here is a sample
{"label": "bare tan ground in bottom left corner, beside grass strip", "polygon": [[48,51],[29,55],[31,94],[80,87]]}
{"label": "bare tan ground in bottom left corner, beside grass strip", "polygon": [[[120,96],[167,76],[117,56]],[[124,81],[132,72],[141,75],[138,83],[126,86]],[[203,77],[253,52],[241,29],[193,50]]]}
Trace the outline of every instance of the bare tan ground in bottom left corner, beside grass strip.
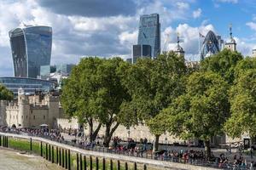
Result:
{"label": "bare tan ground in bottom left corner, beside grass strip", "polygon": [[41,157],[21,155],[12,150],[0,148],[0,170],[61,170],[55,164],[45,161]]}

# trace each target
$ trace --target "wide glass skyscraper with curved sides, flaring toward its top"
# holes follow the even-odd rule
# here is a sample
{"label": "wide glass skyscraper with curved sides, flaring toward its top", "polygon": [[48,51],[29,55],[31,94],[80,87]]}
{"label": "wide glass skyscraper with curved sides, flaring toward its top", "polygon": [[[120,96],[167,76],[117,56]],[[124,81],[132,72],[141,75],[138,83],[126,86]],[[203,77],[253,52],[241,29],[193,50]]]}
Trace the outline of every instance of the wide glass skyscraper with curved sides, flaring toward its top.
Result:
{"label": "wide glass skyscraper with curved sides, flaring toward its top", "polygon": [[52,29],[49,26],[26,26],[9,31],[15,77],[40,75],[40,66],[49,65]]}

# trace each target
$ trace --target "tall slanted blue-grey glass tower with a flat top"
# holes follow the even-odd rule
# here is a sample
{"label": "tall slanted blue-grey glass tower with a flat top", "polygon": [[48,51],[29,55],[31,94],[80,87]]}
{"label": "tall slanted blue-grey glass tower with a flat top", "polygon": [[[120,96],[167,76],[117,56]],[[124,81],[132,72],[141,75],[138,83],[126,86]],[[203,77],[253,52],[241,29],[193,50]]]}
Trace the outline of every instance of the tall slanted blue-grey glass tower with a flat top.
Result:
{"label": "tall slanted blue-grey glass tower with a flat top", "polygon": [[160,54],[159,14],[143,14],[141,16],[137,44],[150,45],[152,58],[156,58]]}

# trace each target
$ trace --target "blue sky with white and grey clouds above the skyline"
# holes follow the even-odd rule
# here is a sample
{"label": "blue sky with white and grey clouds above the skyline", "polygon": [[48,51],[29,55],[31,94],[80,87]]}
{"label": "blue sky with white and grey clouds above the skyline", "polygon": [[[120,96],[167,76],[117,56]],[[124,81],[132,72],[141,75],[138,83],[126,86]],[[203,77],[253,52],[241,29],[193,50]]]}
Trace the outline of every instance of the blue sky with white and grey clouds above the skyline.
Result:
{"label": "blue sky with white and grey clouds above the skyline", "polygon": [[176,46],[177,32],[187,60],[198,60],[199,32],[229,40],[232,24],[237,49],[256,48],[254,0],[1,0],[0,76],[13,76],[9,31],[20,26],[51,26],[51,65],[78,64],[83,56],[126,58],[137,44],[142,14],[160,14],[161,48]]}

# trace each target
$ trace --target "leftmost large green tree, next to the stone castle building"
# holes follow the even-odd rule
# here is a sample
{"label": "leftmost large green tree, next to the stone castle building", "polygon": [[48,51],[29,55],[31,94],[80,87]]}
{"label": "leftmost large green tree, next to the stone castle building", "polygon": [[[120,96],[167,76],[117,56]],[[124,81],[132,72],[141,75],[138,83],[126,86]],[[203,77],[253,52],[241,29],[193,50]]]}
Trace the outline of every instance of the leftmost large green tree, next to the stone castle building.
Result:
{"label": "leftmost large green tree, next to the stone castle building", "polygon": [[102,124],[94,128],[94,122],[98,120],[96,105],[97,67],[102,65],[103,60],[98,58],[81,59],[79,65],[73,68],[62,88],[61,105],[68,117],[77,117],[79,122],[89,127],[90,141],[96,139]]}

